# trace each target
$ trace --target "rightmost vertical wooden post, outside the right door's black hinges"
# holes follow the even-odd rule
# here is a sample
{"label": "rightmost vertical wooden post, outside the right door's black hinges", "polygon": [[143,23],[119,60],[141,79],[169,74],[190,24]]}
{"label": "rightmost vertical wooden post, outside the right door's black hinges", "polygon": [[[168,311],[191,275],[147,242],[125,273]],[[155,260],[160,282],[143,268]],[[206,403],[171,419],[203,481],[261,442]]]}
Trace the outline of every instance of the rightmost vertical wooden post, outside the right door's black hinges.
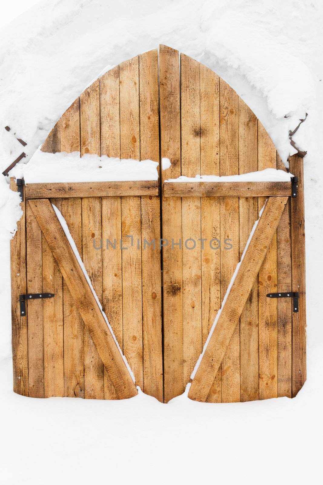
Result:
{"label": "rightmost vertical wooden post, outside the right door's black hinges", "polygon": [[306,381],[305,212],[303,159],[293,155],[290,172],[298,177],[297,197],[291,198],[292,291],[299,292],[298,312],[292,312],[292,397]]}

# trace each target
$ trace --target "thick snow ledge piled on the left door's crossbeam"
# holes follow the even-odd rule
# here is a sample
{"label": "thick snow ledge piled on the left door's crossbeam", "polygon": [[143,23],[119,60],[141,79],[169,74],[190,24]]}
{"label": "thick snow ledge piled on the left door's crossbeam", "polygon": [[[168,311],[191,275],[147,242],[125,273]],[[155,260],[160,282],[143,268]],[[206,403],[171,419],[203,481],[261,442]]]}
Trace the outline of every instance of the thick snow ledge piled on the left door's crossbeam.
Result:
{"label": "thick snow ledge piled on the left door's crossbeam", "polygon": [[100,182],[113,180],[158,180],[158,163],[152,160],[120,160],[80,152],[46,153],[41,147],[29,162],[19,162],[9,176],[24,177],[25,183]]}

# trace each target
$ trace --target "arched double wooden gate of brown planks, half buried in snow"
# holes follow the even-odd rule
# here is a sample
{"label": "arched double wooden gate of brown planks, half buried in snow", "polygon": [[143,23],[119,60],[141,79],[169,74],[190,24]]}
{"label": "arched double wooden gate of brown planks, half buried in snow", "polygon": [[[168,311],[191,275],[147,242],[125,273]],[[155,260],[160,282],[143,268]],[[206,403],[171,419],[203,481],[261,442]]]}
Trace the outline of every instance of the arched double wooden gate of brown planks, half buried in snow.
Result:
{"label": "arched double wooden gate of brown planks, half buried in snow", "polygon": [[[249,260],[254,279],[242,280],[247,294],[243,305],[245,296],[239,300],[238,320],[229,328],[221,315],[217,324],[217,331],[225,329],[221,341],[227,343],[219,349],[213,342],[212,352],[211,341],[208,345],[212,362],[220,358],[218,368],[210,371],[204,354],[189,396],[219,403],[297,394],[306,379],[301,160],[294,156],[290,162],[299,182],[298,196],[288,200],[287,182],[266,188],[247,184],[244,191],[221,186],[221,192],[218,186],[216,196],[214,186],[179,188],[166,182],[181,175],[286,170],[261,122],[225,81],[190,57],[160,46],[159,64],[152,50],[94,81],[62,115],[42,150],[154,161],[167,157],[171,166],[160,170],[160,196],[156,186],[144,182],[128,186],[127,192],[120,185],[110,184],[107,192],[102,185],[91,184],[95,188],[89,190],[83,184],[74,187],[73,197],[64,192],[64,184],[56,191],[55,184],[26,186],[24,216],[12,242],[16,392],[121,396],[48,245],[33,199],[48,202],[50,197],[62,213],[136,384],[168,402],[192,381],[250,231],[271,195],[266,217],[272,217],[274,230],[259,271]],[[122,244],[108,249],[107,240],[114,239]],[[144,247],[145,240],[153,239],[161,240],[161,251],[158,243]],[[22,317],[17,297],[39,291],[55,293],[55,298],[30,301]],[[278,291],[298,291],[299,311],[292,311],[290,298],[266,296]],[[238,298],[230,295],[236,311]],[[222,313],[228,318],[228,309]],[[205,395],[199,383],[210,376]]]}

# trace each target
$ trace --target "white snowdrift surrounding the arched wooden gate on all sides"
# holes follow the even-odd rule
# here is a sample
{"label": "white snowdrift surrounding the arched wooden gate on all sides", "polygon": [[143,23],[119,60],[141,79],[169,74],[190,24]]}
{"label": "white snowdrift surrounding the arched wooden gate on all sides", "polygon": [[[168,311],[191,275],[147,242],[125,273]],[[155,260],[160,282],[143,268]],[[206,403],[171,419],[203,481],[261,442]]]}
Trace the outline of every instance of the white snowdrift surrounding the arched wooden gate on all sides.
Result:
{"label": "white snowdrift surrounding the arched wooden gate on all sides", "polygon": [[[79,93],[113,65],[170,45],[215,70],[284,161],[304,159],[308,380],[295,399],[201,404],[45,400],[12,391],[9,240],[17,195],[0,176],[0,477],[9,484],[318,483],[322,454],[323,2],[0,0],[0,165],[27,162]],[[19,8],[18,8],[19,7]],[[9,11],[9,9],[11,10]],[[9,11],[8,15],[6,11]],[[287,117],[285,117],[287,116]],[[9,125],[11,131],[4,127]],[[16,137],[28,145],[22,147]]]}

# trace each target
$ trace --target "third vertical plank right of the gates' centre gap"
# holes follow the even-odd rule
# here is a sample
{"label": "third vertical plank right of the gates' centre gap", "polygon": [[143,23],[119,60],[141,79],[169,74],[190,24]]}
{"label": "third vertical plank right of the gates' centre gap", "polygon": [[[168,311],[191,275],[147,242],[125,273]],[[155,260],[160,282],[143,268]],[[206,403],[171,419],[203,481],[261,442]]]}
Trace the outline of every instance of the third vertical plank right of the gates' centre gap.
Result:
{"label": "third vertical plank right of the gates' centre gap", "polygon": [[[219,77],[200,64],[200,163],[201,175],[220,175]],[[202,346],[221,307],[220,299],[220,200],[201,198]],[[210,241],[213,242],[210,245]],[[221,402],[221,369],[207,402]]]}

